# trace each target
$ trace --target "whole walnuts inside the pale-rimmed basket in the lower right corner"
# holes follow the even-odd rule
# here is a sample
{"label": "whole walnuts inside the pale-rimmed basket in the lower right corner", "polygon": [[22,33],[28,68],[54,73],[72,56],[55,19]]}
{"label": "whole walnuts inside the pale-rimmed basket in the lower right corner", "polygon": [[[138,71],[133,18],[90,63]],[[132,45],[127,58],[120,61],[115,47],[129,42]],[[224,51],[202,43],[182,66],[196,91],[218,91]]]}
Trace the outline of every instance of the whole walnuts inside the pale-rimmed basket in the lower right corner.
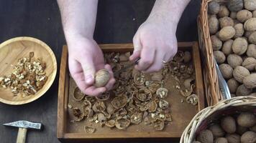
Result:
{"label": "whole walnuts inside the pale-rimmed basket in the lower right corner", "polygon": [[256,117],[250,112],[221,118],[199,132],[193,143],[255,143]]}

